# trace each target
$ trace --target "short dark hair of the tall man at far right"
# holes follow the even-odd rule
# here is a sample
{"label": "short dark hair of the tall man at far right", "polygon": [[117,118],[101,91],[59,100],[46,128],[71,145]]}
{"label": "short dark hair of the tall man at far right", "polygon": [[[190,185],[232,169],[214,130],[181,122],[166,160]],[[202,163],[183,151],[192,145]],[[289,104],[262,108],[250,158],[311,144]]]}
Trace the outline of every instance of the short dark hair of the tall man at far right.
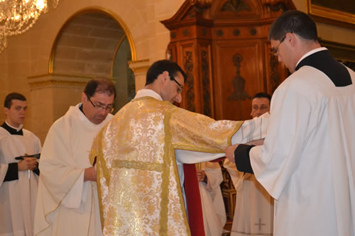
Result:
{"label": "short dark hair of the tall man at far right", "polygon": [[287,33],[295,33],[306,40],[318,40],[315,21],[302,11],[282,13],[271,25],[268,40],[281,40]]}

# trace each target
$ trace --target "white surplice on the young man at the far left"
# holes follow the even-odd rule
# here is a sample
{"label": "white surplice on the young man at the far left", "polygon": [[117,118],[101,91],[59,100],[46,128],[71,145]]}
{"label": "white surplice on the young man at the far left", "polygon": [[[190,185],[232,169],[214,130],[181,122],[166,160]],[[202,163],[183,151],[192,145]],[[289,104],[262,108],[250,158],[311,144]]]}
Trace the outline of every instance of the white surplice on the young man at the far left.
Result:
{"label": "white surplice on the young man at the far left", "polygon": [[18,172],[18,180],[5,181],[9,163],[15,157],[40,153],[40,140],[31,131],[11,135],[0,127],[0,235],[33,235],[33,218],[38,176],[28,171]]}

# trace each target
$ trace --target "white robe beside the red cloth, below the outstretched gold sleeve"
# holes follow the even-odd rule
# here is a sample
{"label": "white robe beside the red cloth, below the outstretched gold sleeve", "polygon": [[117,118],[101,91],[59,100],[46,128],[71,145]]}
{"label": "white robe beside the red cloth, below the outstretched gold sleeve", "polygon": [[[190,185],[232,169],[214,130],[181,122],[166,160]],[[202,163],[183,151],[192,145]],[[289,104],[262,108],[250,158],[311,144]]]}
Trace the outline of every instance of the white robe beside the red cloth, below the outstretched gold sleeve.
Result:
{"label": "white robe beside the red cloth, below the outstretched gold sleeve", "polygon": [[220,187],[223,181],[222,169],[218,162],[203,162],[201,169],[207,176],[207,184],[199,182],[204,233],[206,236],[220,236],[226,224],[226,209]]}

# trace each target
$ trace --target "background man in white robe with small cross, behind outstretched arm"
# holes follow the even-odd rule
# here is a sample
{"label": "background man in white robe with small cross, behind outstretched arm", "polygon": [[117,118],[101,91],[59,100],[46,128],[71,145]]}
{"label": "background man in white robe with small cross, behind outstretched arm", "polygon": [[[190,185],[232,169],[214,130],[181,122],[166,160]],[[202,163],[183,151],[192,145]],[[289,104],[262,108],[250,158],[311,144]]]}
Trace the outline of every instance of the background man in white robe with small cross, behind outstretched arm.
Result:
{"label": "background man in white robe with small cross, behind outstretched arm", "polygon": [[[258,93],[251,100],[251,117],[268,117],[271,96]],[[266,134],[264,134],[265,136]],[[273,197],[253,174],[239,172],[233,162],[224,161],[236,189],[231,236],[273,235]]]}

